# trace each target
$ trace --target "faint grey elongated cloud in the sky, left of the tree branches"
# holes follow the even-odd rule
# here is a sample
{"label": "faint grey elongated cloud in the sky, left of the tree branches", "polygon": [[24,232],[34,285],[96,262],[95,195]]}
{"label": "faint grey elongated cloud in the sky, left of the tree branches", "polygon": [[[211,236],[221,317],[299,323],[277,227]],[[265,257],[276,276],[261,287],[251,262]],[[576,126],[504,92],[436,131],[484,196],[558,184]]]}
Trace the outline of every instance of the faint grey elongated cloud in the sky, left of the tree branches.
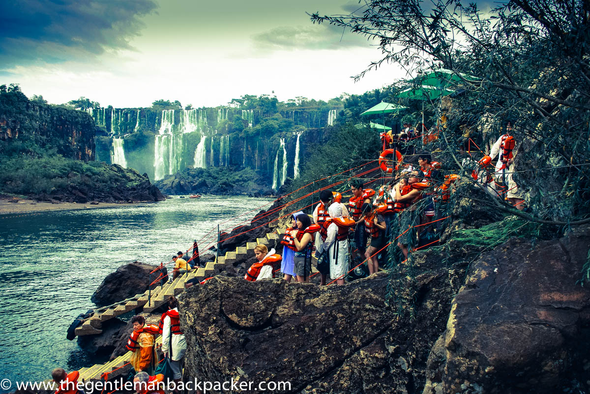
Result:
{"label": "faint grey elongated cloud in the sky, left of the tree branches", "polygon": [[254,46],[268,51],[294,49],[343,49],[369,46],[366,38],[343,28],[321,24],[305,27],[284,26],[256,34]]}

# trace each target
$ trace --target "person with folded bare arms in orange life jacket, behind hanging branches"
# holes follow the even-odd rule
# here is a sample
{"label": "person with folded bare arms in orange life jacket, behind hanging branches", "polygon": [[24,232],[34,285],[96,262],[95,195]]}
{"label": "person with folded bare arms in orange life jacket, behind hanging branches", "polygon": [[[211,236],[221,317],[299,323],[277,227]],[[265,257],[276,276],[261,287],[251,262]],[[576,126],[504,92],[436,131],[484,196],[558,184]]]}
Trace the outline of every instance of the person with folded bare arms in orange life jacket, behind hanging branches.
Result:
{"label": "person with folded bare arms in orange life jacket, behind hanging branches", "polygon": [[399,237],[398,247],[402,250],[404,258],[408,258],[408,248],[412,244],[414,239],[414,227],[418,225],[420,220],[419,213],[417,212],[417,205],[414,204],[422,197],[422,192],[416,188],[412,188],[412,184],[418,183],[419,178],[418,171],[412,171],[408,177],[408,184],[406,186],[396,185],[395,201],[402,204],[409,204],[408,208],[403,209],[399,215]]}

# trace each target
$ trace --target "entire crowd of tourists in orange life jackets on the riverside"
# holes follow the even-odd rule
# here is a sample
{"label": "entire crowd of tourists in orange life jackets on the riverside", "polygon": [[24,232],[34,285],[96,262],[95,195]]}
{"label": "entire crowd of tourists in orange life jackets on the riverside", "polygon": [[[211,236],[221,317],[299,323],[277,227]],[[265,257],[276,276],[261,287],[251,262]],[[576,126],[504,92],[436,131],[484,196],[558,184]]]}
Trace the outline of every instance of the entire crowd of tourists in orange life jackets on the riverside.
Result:
{"label": "entire crowd of tourists in orange life jackets on the riverside", "polygon": [[[405,125],[402,138],[415,138],[424,133],[424,128]],[[510,125],[509,125],[510,127]],[[506,198],[520,210],[525,200],[514,182],[513,160],[516,155],[515,141],[509,133],[501,135],[491,145],[489,155],[475,160],[461,147],[461,173],[471,173],[478,186],[501,198]],[[411,128],[411,130],[409,130]],[[405,134],[405,135],[404,135]],[[417,135],[418,134],[418,135]],[[412,136],[412,137],[410,137]],[[382,135],[382,138],[384,136]],[[399,142],[399,135],[396,142]],[[384,148],[394,140],[384,141]],[[394,145],[395,146],[395,145]],[[495,165],[491,165],[497,159]],[[378,272],[389,244],[399,250],[399,259],[404,263],[414,246],[417,249],[437,242],[442,231],[441,216],[445,204],[457,189],[459,174],[444,174],[440,163],[432,161],[428,153],[418,154],[418,164],[387,164],[385,173],[391,174],[388,182],[378,190],[366,188],[362,181],[350,184],[348,203],[343,203],[342,194],[322,190],[320,201],[313,214],[299,211],[292,214],[288,227],[280,240],[282,256],[266,245],[254,248],[255,263],[251,265],[244,279],[255,281],[274,278],[280,272],[283,280],[309,283],[312,276],[312,256],[317,261],[320,284],[333,282],[343,285],[351,268],[366,261],[369,275]],[[457,171],[460,172],[460,171]],[[415,249],[414,249],[415,250]],[[181,251],[173,256],[175,266],[171,280],[189,272],[192,268],[186,254]],[[389,259],[394,258],[390,256]],[[196,267],[196,266],[195,266]],[[191,283],[192,284],[192,283]],[[189,284],[190,285],[190,284]],[[182,377],[182,362],[186,352],[186,340],[180,329],[178,300],[170,297],[168,311],[162,314],[159,325],[146,323],[143,316],[131,319],[133,332],[127,340],[130,350],[130,364],[134,387],[139,394],[163,394],[162,390],[149,391],[147,384],[162,381],[159,369],[162,362],[169,367],[168,378],[179,382]],[[160,362],[156,352],[156,337],[162,335]],[[53,370],[54,382],[76,382],[78,372],[66,373],[64,369]],[[66,388],[71,386],[66,385]],[[55,394],[80,394],[79,390],[58,388]],[[83,393],[81,393],[83,394]]]}

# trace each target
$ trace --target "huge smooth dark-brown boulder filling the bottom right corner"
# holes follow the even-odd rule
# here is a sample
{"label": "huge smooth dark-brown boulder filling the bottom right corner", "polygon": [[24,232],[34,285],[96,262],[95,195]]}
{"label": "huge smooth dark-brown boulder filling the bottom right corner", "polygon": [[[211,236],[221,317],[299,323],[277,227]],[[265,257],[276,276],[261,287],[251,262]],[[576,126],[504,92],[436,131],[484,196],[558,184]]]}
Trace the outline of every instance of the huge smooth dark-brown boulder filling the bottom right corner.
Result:
{"label": "huge smooth dark-brown boulder filling the bottom right corner", "polygon": [[586,226],[536,246],[511,239],[478,259],[451,306],[443,391],[588,392],[590,289],[576,281],[589,248]]}

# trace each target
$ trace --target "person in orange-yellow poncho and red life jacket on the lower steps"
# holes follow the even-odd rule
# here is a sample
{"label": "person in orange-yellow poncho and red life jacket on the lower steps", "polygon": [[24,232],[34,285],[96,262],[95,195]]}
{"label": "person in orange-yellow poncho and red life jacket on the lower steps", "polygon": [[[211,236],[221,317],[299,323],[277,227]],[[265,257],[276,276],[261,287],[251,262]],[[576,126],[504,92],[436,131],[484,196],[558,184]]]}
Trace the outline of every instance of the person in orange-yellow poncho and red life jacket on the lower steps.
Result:
{"label": "person in orange-yellow poncho and red life jacket on the lower steps", "polygon": [[145,318],[139,314],[131,318],[133,332],[127,340],[127,350],[133,352],[129,362],[135,372],[145,371],[152,374],[158,365],[158,353],[155,350],[155,336],[159,334],[156,325],[146,325]]}

